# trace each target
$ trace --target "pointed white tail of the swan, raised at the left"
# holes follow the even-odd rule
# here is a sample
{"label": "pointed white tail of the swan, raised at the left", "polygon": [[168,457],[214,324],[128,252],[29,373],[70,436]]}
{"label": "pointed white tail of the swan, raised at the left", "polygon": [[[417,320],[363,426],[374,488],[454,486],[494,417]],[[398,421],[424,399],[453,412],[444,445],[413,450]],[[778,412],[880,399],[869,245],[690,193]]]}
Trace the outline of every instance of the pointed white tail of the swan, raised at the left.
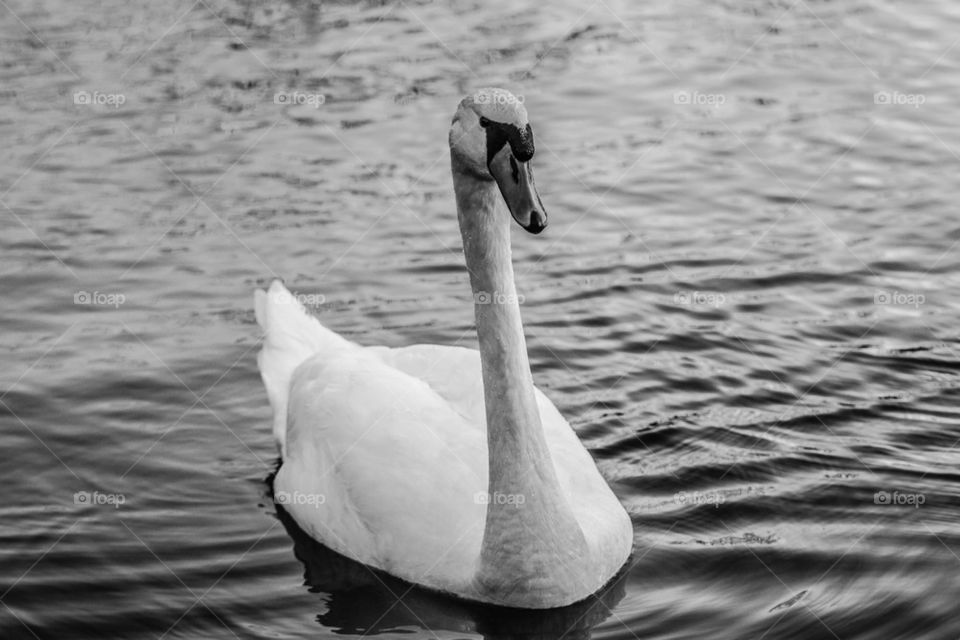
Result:
{"label": "pointed white tail of the swan, raised at the left", "polygon": [[352,345],[307,313],[283,283],[274,280],[266,291],[254,292],[257,324],[264,333],[257,356],[260,377],[273,408],[273,436],[281,452],[287,432],[287,401],[293,372],[305,360],[324,351]]}

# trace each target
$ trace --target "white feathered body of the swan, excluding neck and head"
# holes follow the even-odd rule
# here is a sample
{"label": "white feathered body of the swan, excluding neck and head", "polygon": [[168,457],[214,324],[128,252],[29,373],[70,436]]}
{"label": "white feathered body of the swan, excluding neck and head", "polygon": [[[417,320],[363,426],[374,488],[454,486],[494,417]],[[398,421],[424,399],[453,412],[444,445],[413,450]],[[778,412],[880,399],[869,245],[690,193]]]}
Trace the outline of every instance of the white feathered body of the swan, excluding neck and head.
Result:
{"label": "white feathered body of the swan, excluding neck and head", "polygon": [[[361,347],[308,315],[279,281],[256,294],[260,370],[285,448],[274,481],[284,508],[339,553],[470,597],[486,517],[477,496],[488,486],[480,353]],[[619,567],[616,533],[629,519],[567,421],[539,389],[536,397],[588,544],[619,552]],[[613,536],[601,526],[611,519],[626,522]]]}

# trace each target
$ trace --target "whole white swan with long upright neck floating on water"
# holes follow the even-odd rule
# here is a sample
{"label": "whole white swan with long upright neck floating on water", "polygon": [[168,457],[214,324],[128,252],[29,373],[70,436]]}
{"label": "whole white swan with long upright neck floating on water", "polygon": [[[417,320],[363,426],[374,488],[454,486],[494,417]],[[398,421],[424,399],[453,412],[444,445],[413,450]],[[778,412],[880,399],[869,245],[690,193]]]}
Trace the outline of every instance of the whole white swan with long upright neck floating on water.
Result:
{"label": "whole white swan with long upright neck floating on water", "polygon": [[449,142],[480,350],[360,346],[279,280],[257,290],[274,495],[312,538],[407,582],[565,606],[618,573],[633,528],[533,384],[510,253],[511,216],[533,234],[547,224],[526,108],[481,89],[460,102]]}

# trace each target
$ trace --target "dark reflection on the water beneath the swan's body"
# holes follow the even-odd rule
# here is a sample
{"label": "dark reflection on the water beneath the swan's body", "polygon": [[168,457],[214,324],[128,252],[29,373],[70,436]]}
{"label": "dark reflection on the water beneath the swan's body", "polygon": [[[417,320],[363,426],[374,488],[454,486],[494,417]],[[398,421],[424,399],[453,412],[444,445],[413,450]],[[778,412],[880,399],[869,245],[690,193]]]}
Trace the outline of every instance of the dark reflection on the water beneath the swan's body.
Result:
{"label": "dark reflection on the water beneath the swan's body", "polygon": [[[267,478],[273,485],[273,475]],[[430,591],[360,564],[307,535],[277,505],[277,517],[293,538],[311,591],[323,592],[326,611],[317,621],[340,634],[374,635],[411,628],[481,634],[487,640],[590,637],[625,594],[621,571],[594,596],[557,609],[511,609],[469,602]]]}

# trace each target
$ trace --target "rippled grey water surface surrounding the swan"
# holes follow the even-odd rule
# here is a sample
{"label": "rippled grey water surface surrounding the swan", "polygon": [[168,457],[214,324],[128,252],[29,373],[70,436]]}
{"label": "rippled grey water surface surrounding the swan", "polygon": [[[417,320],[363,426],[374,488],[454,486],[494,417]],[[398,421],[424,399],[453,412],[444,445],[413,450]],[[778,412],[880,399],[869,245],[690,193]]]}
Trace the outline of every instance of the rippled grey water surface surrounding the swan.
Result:
{"label": "rippled grey water surface surrounding the swan", "polygon": [[[960,635],[954,3],[0,15],[3,638]],[[537,135],[534,377],[634,522],[571,610],[410,590],[270,497],[254,288],[475,345],[446,131],[483,85]]]}

